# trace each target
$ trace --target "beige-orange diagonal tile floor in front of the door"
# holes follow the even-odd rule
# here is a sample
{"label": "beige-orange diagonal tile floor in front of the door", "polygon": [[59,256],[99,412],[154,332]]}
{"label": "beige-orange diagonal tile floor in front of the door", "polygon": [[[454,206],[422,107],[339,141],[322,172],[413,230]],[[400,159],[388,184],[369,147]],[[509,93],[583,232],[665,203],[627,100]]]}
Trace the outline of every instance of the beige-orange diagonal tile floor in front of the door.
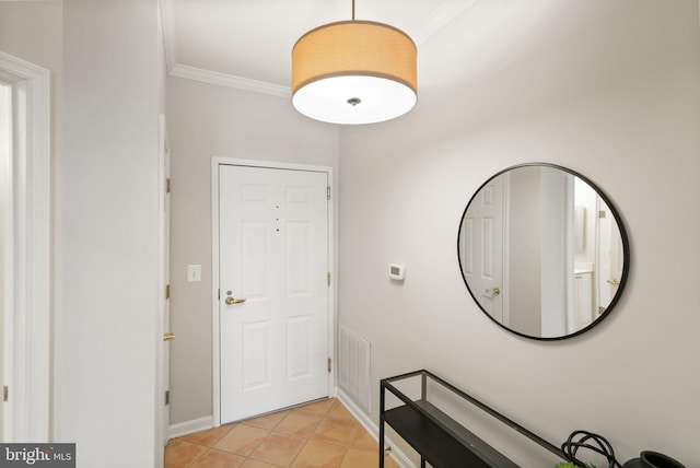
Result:
{"label": "beige-orange diagonal tile floor in front of the door", "polygon": [[[335,398],[184,435],[165,468],[373,468],[376,441]],[[397,468],[390,458],[386,468]]]}

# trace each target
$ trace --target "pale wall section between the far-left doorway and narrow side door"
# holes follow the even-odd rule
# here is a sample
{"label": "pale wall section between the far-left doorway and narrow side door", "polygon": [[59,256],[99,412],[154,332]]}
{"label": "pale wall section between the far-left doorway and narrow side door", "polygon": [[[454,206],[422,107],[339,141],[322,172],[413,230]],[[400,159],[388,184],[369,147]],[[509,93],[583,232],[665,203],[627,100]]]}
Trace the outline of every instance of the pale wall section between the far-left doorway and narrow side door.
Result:
{"label": "pale wall section between the far-left doorway and narrow side door", "polygon": [[54,437],[80,466],[155,466],[161,448],[158,21],[155,0],[63,2]]}

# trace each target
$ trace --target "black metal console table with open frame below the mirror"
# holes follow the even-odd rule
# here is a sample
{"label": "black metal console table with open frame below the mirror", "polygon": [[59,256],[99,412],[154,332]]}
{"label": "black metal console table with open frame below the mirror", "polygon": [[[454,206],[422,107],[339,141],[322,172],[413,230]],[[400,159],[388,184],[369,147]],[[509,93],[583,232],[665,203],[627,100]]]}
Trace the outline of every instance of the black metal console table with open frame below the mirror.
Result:
{"label": "black metal console table with open frame below the mirror", "polygon": [[[407,397],[394,385],[394,383],[412,378],[420,378],[421,396],[416,400]],[[389,424],[399,436],[420,454],[421,468],[425,468],[425,461],[435,468],[517,468],[517,464],[508,459],[495,448],[447,416],[434,402],[431,402],[428,390],[429,384],[433,385],[433,383],[486,411],[511,429],[549,452],[557,454],[560,458],[564,458],[560,448],[467,395],[454,385],[423,370],[381,381],[380,468],[384,468],[384,424]],[[386,390],[395,395],[404,405],[387,410],[385,407]]]}

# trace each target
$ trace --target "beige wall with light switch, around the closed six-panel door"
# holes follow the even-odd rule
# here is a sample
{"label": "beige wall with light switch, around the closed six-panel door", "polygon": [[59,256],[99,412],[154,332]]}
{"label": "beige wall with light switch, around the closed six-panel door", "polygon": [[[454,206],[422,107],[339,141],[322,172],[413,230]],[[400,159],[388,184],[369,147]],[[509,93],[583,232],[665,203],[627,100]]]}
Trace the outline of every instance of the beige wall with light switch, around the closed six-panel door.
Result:
{"label": "beige wall with light switch, around the closed six-panel door", "polygon": [[[212,416],[211,159],[338,166],[338,128],[288,98],[171,78],[171,422]],[[187,282],[187,265],[202,281]]]}

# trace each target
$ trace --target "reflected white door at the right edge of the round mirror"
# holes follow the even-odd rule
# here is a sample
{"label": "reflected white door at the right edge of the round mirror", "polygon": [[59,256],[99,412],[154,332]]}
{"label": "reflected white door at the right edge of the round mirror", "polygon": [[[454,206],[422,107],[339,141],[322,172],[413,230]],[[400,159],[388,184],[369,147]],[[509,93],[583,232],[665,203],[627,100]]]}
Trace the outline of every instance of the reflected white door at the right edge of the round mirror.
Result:
{"label": "reflected white door at the right edge of the round mirror", "polygon": [[598,198],[597,241],[597,314],[599,315],[605,312],[617,294],[625,265],[620,230],[612,212],[600,198]]}

